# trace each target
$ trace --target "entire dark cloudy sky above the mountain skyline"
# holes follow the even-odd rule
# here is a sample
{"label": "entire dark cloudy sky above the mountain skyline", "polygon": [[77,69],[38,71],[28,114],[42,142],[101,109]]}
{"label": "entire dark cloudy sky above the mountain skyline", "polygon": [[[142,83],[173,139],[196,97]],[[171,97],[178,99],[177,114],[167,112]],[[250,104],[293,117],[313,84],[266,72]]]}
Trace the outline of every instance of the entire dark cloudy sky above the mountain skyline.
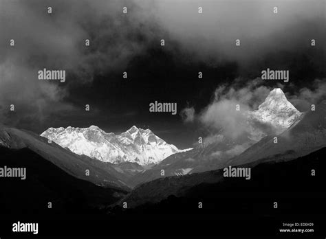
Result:
{"label": "entire dark cloudy sky above the mountain skyline", "polygon": [[[254,110],[280,87],[306,111],[325,98],[325,5],[0,0],[0,122],[39,134],[90,125],[121,133],[135,125],[189,148],[218,130],[202,119],[221,89]],[[39,80],[44,68],[65,70],[65,82]],[[261,80],[267,68],[289,70],[290,81]],[[239,98],[243,92],[246,99]],[[149,112],[155,101],[177,103],[177,114]]]}

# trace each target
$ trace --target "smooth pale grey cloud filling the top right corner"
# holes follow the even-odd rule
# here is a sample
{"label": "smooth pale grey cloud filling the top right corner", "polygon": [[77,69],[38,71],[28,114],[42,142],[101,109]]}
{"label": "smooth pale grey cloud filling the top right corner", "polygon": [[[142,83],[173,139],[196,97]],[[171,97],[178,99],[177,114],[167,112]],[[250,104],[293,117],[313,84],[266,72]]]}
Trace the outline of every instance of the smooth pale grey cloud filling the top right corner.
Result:
{"label": "smooth pale grey cloud filling the top right corner", "polygon": [[[206,60],[245,65],[271,52],[301,51],[312,38],[325,51],[324,1],[157,1],[157,5],[158,19],[168,32]],[[199,6],[203,14],[196,14]],[[236,39],[240,47],[235,47]]]}

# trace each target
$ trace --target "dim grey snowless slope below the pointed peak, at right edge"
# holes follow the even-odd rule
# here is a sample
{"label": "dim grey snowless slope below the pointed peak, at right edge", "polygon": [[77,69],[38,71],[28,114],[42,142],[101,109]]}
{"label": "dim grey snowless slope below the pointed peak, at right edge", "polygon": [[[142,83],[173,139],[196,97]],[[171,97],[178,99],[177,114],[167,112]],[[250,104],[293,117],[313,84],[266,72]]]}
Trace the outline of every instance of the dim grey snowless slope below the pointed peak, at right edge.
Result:
{"label": "dim grey snowless slope below the pointed peak, at right edge", "polygon": [[316,109],[306,112],[301,120],[278,135],[277,144],[274,144],[273,135],[265,137],[228,163],[239,165],[260,159],[284,161],[326,147],[326,100],[320,102]]}

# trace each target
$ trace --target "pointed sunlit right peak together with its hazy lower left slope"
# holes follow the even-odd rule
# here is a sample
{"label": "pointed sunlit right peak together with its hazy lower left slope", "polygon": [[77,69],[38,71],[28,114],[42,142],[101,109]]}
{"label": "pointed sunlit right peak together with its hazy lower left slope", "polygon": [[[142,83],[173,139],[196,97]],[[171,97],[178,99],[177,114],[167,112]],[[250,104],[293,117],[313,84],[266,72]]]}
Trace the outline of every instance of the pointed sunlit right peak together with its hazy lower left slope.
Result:
{"label": "pointed sunlit right peak together with its hazy lower left slope", "polygon": [[[287,101],[285,94],[279,88],[270,91],[257,110],[246,110],[241,114],[243,114],[241,126],[244,126],[244,130],[239,137],[234,139],[221,130],[218,135],[204,140],[204,146],[209,150],[215,150],[213,157],[217,157],[216,153],[220,151],[241,152],[241,150],[246,150],[267,135],[283,133],[292,124],[300,122],[303,117],[303,113]],[[213,144],[216,147],[213,147]]]}

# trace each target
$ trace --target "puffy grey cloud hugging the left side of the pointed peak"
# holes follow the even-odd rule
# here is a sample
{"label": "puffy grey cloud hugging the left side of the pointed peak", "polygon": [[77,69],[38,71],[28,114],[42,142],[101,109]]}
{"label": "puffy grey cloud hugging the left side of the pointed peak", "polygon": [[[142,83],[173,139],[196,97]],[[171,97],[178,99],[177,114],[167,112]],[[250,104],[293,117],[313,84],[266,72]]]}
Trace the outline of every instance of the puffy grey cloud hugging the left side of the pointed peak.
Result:
{"label": "puffy grey cloud hugging the left side of the pointed peak", "polygon": [[[216,142],[220,134],[232,140],[248,140],[248,137],[256,140],[261,135],[276,133],[276,128],[270,124],[248,119],[248,111],[257,110],[271,90],[260,78],[246,82],[237,78],[217,87],[212,102],[197,115],[191,115],[193,122],[199,122],[210,131],[205,144]],[[188,118],[184,117],[184,120]]]}

